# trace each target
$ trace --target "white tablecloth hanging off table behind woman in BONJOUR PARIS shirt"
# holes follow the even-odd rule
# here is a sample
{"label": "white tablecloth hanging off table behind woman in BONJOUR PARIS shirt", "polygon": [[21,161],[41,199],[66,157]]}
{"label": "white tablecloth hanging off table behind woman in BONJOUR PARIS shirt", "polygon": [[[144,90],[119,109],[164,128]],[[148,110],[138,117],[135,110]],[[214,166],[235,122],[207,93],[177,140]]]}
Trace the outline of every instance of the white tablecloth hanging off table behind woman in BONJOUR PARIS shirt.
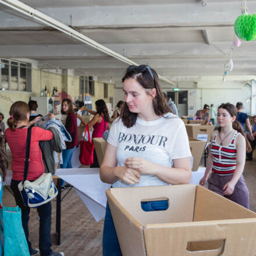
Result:
{"label": "white tablecloth hanging off table behind woman in BONJOUR PARIS shirt", "polygon": [[[200,167],[192,172],[190,184],[199,184],[204,176],[205,167]],[[110,184],[101,182],[99,179],[99,168],[77,168],[57,169],[56,176],[74,186],[74,190],[84,202],[96,221],[105,216],[106,194],[105,190],[111,187]]]}

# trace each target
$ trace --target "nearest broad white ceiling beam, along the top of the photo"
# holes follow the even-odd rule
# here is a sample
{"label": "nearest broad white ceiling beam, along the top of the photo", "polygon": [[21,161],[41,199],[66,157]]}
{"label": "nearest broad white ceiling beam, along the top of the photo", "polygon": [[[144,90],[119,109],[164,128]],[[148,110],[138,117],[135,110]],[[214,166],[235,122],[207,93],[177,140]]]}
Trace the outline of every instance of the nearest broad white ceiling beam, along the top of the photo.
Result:
{"label": "nearest broad white ceiling beam, along the top of the photo", "polygon": [[[233,8],[230,8],[232,5]],[[237,6],[237,8],[234,8]],[[256,3],[250,2],[250,9],[256,9]],[[2,8],[3,10],[3,8]],[[240,3],[209,2],[207,8],[200,4],[155,4],[120,6],[76,6],[58,8],[37,8],[56,20],[69,26],[87,29],[111,29],[129,27],[200,27],[232,26],[240,14]],[[40,26],[33,20],[22,20],[15,13],[0,15],[0,27]]]}

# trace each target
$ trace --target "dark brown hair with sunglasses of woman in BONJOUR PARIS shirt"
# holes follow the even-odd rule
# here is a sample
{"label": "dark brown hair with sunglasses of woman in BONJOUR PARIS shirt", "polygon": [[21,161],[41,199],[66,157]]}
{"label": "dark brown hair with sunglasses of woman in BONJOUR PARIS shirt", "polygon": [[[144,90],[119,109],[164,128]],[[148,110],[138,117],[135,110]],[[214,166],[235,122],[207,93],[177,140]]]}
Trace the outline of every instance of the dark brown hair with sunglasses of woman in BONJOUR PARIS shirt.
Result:
{"label": "dark brown hair with sunglasses of woman in BONJOUR PARIS shirt", "polygon": [[[144,70],[140,71],[141,68]],[[147,94],[150,94],[147,89],[156,89],[155,98],[152,100],[156,115],[163,116],[165,113],[172,112],[165,101],[157,72],[155,72],[154,69],[151,69],[151,67],[147,65],[129,66],[126,70],[125,76],[122,78],[122,82],[130,78],[135,79],[144,89],[146,89]],[[136,123],[137,113],[130,112],[127,103],[125,102],[122,106],[120,119],[127,128],[132,127]]]}

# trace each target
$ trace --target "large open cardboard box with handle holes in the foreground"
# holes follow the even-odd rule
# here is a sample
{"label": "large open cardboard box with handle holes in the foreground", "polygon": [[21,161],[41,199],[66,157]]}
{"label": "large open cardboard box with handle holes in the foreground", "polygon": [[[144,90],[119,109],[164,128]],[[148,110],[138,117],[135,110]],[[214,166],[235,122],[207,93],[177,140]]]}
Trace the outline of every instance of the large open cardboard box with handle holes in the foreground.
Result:
{"label": "large open cardboard box with handle holes in the foreground", "polygon": [[[256,255],[256,214],[201,186],[106,190],[123,256]],[[142,200],[168,198],[165,211]]]}

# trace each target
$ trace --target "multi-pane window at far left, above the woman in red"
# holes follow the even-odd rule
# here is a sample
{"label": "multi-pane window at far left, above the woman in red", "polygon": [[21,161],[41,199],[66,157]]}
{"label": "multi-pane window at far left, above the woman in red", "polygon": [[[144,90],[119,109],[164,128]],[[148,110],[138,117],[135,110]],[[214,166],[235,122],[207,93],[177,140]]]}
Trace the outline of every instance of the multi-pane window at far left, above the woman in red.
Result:
{"label": "multi-pane window at far left, above the woman in red", "polygon": [[2,59],[0,88],[10,91],[31,91],[31,64]]}

